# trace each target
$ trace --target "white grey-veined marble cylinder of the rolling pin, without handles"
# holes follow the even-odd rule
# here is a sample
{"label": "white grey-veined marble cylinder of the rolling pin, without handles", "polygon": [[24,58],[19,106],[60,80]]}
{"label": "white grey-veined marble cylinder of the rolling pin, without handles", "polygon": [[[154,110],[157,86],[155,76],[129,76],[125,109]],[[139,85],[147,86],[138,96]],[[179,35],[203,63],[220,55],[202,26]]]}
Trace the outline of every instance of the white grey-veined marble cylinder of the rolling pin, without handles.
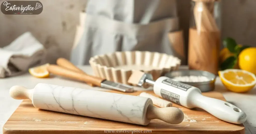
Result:
{"label": "white grey-veined marble cylinder of the rolling pin, without handles", "polygon": [[153,104],[140,96],[86,90],[39,83],[32,97],[36,108],[95,118],[147,125],[147,107]]}

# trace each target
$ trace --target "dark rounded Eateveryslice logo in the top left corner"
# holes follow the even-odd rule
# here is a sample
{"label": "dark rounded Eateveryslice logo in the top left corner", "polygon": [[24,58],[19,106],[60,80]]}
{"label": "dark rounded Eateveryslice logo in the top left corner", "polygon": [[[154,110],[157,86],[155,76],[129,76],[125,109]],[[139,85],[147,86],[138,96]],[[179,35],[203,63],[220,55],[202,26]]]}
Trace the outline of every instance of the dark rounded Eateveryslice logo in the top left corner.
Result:
{"label": "dark rounded Eateveryslice logo in the top left corner", "polygon": [[42,12],[42,3],[39,1],[4,1],[1,11],[7,15],[38,15]]}

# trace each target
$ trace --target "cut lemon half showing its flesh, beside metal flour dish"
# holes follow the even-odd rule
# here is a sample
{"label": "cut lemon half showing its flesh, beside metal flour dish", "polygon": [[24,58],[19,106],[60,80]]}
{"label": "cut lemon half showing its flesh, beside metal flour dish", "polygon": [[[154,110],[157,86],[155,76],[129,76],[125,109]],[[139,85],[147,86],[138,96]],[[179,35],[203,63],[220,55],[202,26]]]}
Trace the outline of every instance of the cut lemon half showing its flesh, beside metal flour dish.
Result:
{"label": "cut lemon half showing its flesh, beside metal flour dish", "polygon": [[256,76],[245,70],[226,69],[218,74],[224,86],[233,92],[247,92],[256,84]]}

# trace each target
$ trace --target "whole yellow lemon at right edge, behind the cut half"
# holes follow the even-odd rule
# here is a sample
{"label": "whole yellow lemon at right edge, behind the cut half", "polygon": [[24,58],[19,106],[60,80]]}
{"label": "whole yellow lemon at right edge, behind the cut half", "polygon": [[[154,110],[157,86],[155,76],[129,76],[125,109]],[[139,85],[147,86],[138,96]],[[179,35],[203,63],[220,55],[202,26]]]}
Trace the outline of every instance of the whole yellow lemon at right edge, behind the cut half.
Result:
{"label": "whole yellow lemon at right edge, behind the cut half", "polygon": [[239,67],[256,75],[256,47],[246,48],[239,54]]}

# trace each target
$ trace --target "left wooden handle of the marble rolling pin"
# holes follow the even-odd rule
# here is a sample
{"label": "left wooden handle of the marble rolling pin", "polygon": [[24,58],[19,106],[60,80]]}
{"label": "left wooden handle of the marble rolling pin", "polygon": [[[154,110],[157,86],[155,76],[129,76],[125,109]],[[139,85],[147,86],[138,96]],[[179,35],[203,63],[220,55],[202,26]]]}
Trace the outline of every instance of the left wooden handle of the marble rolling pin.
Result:
{"label": "left wooden handle of the marble rolling pin", "polygon": [[13,86],[10,88],[10,91],[9,91],[10,96],[16,100],[23,100],[23,99],[32,100],[33,93],[34,93],[34,89],[27,89],[22,86]]}

